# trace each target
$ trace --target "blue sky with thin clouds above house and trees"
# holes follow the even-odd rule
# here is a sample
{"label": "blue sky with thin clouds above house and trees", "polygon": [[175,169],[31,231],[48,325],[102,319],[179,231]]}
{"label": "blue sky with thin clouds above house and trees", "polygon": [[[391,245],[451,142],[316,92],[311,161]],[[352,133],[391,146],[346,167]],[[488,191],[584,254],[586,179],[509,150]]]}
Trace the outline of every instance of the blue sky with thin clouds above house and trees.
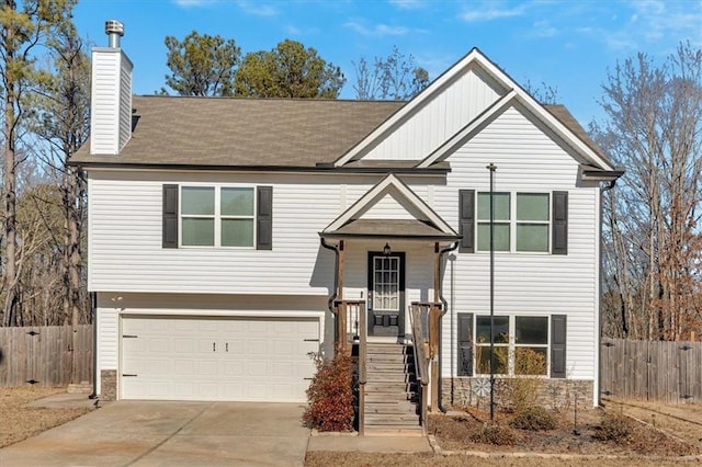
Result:
{"label": "blue sky with thin clouds above house and trees", "polygon": [[587,125],[608,69],[637,52],[663,60],[681,41],[702,46],[702,0],[80,0],[79,32],[106,45],[104,21],[125,25],[122,48],[134,62],[134,91],[165,82],[163,38],[195,30],[234,38],[244,54],[292,38],[338,65],[352,99],[352,61],[387,56],[394,45],[435,78],[478,47],[519,83],[545,82]]}

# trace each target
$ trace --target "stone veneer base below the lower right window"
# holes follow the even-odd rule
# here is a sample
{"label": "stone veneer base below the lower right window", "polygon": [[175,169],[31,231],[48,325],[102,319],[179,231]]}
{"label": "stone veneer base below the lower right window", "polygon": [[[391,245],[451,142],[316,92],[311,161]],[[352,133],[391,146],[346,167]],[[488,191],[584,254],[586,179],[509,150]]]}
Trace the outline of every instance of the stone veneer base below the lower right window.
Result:
{"label": "stone veneer base below the lower right window", "polygon": [[[453,398],[451,397],[451,378],[442,378],[441,397],[442,405],[446,408],[462,407],[488,407],[490,403],[489,394],[478,396],[472,389],[472,381],[476,378],[455,377],[453,378]],[[483,378],[482,378],[483,379]],[[484,378],[489,381],[489,378]],[[496,378],[495,401],[498,407],[508,407],[509,397],[507,394],[509,379]],[[553,410],[567,410],[573,408],[577,398],[578,408],[592,407],[593,381],[585,379],[540,379],[539,395],[536,403]]]}

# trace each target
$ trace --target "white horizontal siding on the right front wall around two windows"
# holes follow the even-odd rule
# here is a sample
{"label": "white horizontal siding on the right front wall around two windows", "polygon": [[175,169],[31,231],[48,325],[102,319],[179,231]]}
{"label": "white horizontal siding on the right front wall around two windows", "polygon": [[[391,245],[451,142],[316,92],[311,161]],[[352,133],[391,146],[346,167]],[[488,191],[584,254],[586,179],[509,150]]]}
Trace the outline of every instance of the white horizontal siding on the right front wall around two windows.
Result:
{"label": "white horizontal siding on the right front wall around two windows", "polygon": [[[446,186],[435,187],[434,208],[457,229],[460,189],[489,190],[486,166],[497,166],[495,190],[568,192],[568,254],[496,253],[497,315],[567,315],[568,378],[597,376],[598,196],[597,187],[577,187],[578,162],[520,110],[508,109],[449,157]],[[458,253],[444,274],[453,312],[489,314],[489,253]],[[454,287],[453,294],[452,286]],[[451,305],[451,304],[450,304]],[[443,319],[443,335],[455,335],[456,319]],[[451,340],[443,340],[444,362],[457,362]],[[443,376],[455,368],[443,365]]]}

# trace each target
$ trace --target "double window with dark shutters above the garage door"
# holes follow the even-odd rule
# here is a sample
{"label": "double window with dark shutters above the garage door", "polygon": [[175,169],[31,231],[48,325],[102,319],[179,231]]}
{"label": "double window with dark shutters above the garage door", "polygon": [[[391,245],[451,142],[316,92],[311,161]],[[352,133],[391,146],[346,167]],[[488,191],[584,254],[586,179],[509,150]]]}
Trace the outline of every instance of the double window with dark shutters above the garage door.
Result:
{"label": "double window with dark shutters above the garage door", "polygon": [[183,247],[253,247],[254,191],[238,186],[181,186]]}

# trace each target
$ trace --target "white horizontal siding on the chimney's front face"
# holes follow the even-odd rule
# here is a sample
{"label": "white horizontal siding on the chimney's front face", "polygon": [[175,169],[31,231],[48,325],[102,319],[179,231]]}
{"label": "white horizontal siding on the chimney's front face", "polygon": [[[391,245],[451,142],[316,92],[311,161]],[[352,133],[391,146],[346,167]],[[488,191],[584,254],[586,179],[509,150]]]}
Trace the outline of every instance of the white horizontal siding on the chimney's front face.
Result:
{"label": "white horizontal siding on the chimney's front face", "polygon": [[[92,113],[90,116],[90,152],[115,155],[120,144],[121,53],[94,48],[92,57]],[[131,115],[129,115],[131,117]],[[129,122],[131,123],[131,122]]]}

